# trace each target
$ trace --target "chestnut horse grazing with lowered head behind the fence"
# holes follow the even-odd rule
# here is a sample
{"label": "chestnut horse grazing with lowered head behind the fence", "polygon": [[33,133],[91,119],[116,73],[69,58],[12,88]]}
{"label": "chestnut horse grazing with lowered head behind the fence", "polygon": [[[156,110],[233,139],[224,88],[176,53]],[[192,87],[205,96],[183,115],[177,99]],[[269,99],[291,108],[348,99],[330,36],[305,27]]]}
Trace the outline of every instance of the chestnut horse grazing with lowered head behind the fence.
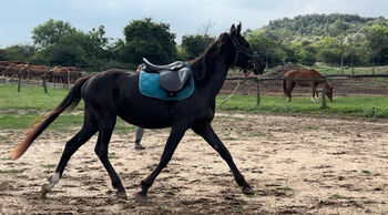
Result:
{"label": "chestnut horse grazing with lowered head behind the fence", "polygon": [[[295,84],[300,86],[310,86],[313,89],[313,102],[319,102],[317,85],[323,84],[323,81],[297,81],[297,79],[324,79],[324,76],[316,70],[289,70],[287,71],[283,80],[284,95],[287,98],[287,102],[292,101],[292,92]],[[287,80],[296,79],[296,80]],[[333,102],[333,86],[329,82],[326,82],[326,95]],[[315,96],[316,95],[316,96]]]}

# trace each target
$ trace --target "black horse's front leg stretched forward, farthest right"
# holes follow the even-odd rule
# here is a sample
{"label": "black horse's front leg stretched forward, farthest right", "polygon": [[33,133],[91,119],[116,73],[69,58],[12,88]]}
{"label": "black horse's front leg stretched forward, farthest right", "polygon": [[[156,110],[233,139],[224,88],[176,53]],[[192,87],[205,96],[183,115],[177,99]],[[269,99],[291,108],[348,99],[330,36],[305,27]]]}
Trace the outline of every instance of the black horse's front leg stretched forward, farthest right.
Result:
{"label": "black horse's front leg stretched forward, farthest right", "polygon": [[236,180],[237,184],[243,187],[243,193],[247,195],[254,194],[253,188],[245,181],[243,174],[238,171],[236,164],[233,162],[233,157],[229,151],[225,147],[225,145],[221,142],[217,134],[214,132],[212,125],[201,124],[193,127],[193,131],[201,135],[215,151],[218,152],[221,157],[231,167],[231,171]]}

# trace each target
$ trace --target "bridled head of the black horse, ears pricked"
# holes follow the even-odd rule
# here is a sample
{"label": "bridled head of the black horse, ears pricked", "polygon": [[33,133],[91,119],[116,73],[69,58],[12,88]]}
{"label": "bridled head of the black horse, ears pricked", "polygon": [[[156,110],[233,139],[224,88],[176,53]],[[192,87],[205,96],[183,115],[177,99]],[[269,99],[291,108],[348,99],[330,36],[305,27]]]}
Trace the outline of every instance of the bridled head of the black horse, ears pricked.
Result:
{"label": "bridled head of the black horse, ears pricked", "polygon": [[253,71],[255,74],[262,74],[265,64],[251,49],[249,43],[241,34],[241,31],[242,23],[239,23],[237,28],[232,24],[231,32],[228,33],[235,50],[234,65],[239,66],[244,73]]}

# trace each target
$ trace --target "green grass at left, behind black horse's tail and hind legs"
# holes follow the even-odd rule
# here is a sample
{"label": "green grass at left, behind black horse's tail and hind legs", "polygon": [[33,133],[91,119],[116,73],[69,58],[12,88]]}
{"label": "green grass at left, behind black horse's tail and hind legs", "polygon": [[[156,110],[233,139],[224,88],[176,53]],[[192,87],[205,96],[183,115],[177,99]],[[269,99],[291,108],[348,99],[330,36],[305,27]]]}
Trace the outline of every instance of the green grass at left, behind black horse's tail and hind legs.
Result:
{"label": "green grass at left, behind black horse's tail and hind legs", "polygon": [[[0,130],[25,130],[54,109],[67,95],[68,90],[48,89],[44,93],[40,86],[22,86],[0,84]],[[75,114],[74,114],[75,113]],[[83,101],[72,112],[62,113],[48,130],[67,131],[81,126],[83,122]],[[115,132],[127,132],[135,126],[122,120],[118,121]]]}

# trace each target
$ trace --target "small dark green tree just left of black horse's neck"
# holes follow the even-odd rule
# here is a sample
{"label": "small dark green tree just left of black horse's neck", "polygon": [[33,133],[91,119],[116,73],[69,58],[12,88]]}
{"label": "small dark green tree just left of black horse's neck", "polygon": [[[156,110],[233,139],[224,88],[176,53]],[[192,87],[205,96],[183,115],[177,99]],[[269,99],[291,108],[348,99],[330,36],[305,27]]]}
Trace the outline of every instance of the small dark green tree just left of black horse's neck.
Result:
{"label": "small dark green tree just left of black horse's neck", "polygon": [[214,41],[215,38],[212,38],[207,34],[183,35],[181,48],[185,52],[185,60],[198,57]]}

